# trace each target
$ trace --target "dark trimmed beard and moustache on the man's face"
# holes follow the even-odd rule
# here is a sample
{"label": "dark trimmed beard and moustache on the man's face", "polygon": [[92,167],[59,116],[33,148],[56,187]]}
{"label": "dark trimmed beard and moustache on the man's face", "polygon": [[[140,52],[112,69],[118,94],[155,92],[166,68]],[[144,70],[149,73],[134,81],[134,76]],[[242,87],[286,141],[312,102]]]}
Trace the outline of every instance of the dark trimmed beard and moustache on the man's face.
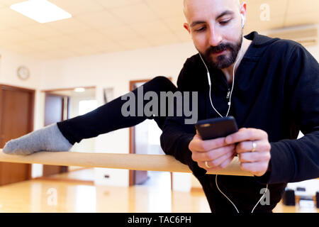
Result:
{"label": "dark trimmed beard and moustache on the man's face", "polygon": [[[209,66],[215,69],[221,70],[221,69],[230,67],[230,65],[233,65],[235,63],[238,52],[240,51],[241,47],[242,47],[242,35],[240,36],[240,39],[235,44],[220,43],[220,45],[216,47],[211,46],[204,53],[202,52],[200,53]],[[211,57],[211,54],[220,52],[223,50],[230,50],[230,56],[228,56],[228,54],[222,54],[222,55],[218,55],[216,57],[216,60],[213,60],[213,57]]]}

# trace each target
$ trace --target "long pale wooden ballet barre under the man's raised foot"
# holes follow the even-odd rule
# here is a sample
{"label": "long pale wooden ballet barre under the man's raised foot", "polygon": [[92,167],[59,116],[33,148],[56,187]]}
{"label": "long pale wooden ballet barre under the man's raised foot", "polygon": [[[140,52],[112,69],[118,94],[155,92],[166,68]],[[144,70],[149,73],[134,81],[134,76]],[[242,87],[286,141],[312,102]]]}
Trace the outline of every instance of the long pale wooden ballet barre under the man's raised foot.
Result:
{"label": "long pale wooden ballet barre under the man's raised foot", "polygon": [[[191,173],[187,165],[182,164],[170,155],[76,152],[40,152],[32,155],[6,155],[0,150],[0,162]],[[208,172],[208,174],[253,176],[250,172],[240,169],[240,162],[237,157],[224,170]]]}

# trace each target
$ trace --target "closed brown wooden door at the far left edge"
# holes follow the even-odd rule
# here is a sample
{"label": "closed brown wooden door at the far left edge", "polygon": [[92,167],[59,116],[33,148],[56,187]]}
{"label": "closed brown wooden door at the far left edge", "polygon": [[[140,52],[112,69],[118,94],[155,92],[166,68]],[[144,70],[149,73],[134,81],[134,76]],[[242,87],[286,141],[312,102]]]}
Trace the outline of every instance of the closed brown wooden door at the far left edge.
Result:
{"label": "closed brown wooden door at the far left edge", "polygon": [[[0,85],[0,148],[33,131],[34,90]],[[0,162],[0,185],[31,179],[30,164]]]}

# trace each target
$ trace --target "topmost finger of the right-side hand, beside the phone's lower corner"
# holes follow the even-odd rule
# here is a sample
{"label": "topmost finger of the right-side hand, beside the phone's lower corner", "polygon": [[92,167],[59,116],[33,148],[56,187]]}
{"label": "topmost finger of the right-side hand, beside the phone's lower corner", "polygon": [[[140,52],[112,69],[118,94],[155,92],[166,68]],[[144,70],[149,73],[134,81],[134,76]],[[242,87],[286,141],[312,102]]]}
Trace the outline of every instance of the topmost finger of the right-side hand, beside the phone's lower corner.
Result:
{"label": "topmost finger of the right-side hand, beside the phone's lower corner", "polygon": [[268,134],[257,128],[243,128],[237,133],[228,135],[225,138],[225,143],[240,143],[245,140],[262,140],[264,138],[268,139]]}

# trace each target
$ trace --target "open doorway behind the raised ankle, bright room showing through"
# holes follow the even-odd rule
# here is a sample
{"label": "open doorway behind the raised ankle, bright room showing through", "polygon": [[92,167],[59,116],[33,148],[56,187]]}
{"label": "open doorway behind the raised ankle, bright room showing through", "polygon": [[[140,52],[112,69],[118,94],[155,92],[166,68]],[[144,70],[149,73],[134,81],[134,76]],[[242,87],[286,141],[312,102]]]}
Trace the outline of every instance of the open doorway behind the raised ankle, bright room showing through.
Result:
{"label": "open doorway behind the raised ankle, bright room showing through", "polygon": [[[45,92],[45,126],[60,121],[65,121],[69,118],[74,118],[97,108],[96,88],[95,87],[77,87],[70,89],[55,89],[47,90]],[[90,138],[82,140],[81,143],[73,145],[70,151],[74,152],[94,152],[95,139]],[[82,167],[58,167],[43,165],[43,177],[50,179],[57,177],[59,174],[67,175],[67,172],[76,170],[83,170]],[[89,179],[87,175],[84,177],[79,174],[72,174],[74,179],[69,180],[84,180],[84,182],[93,182],[93,177]],[[59,176],[59,178],[61,175]],[[72,177],[71,177],[72,178]]]}

